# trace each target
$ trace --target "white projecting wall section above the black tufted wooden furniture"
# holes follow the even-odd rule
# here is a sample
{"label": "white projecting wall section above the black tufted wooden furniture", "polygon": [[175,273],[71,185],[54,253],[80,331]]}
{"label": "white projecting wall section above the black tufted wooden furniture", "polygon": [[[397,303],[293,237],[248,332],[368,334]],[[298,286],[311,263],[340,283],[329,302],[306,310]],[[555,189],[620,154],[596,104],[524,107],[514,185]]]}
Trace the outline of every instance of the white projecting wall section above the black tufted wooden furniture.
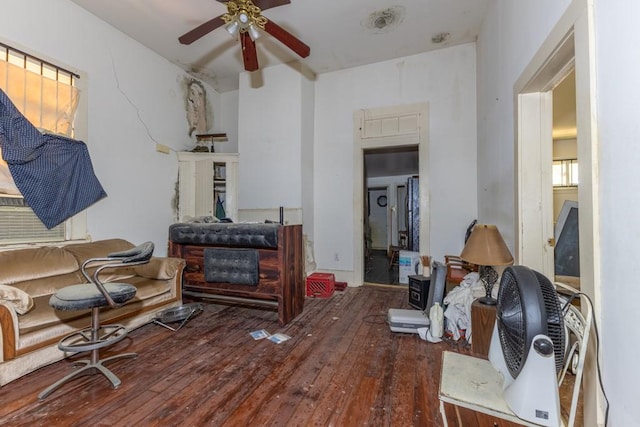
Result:
{"label": "white projecting wall section above the black tufted wooden furniture", "polygon": [[305,80],[286,64],[240,74],[240,209],[302,207]]}

